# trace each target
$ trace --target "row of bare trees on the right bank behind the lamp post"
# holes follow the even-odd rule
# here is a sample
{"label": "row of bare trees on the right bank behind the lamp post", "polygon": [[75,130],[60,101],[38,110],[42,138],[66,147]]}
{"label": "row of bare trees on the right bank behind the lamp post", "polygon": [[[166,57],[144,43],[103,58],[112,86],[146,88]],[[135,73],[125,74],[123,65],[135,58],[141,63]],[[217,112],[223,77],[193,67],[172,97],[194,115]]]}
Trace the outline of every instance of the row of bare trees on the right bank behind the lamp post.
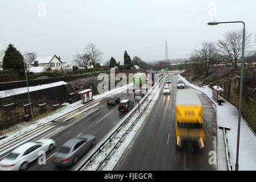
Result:
{"label": "row of bare trees on the right bank behind the lamp post", "polygon": [[[251,34],[245,36],[245,49],[250,47]],[[256,42],[256,40],[255,40]],[[193,69],[200,73],[208,75],[209,67],[213,63],[220,63],[220,61],[228,61],[234,68],[238,67],[242,53],[242,30],[227,31],[223,39],[214,42],[203,41],[200,49],[193,49],[190,54],[190,61],[193,64]],[[252,53],[247,56],[256,56]]]}

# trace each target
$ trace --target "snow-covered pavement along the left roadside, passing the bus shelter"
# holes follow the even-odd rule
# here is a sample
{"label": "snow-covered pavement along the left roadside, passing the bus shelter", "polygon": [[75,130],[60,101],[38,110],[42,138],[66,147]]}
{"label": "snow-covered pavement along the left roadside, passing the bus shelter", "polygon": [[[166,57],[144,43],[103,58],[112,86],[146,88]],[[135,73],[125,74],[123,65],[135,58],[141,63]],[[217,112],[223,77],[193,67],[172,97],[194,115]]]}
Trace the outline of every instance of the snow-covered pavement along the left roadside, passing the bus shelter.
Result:
{"label": "snow-covered pavement along the left roadside, passing the bus shelter", "polygon": [[[61,82],[61,84],[63,83]],[[120,93],[131,85],[133,85],[133,83],[110,90],[109,92],[105,92],[105,93],[93,96],[93,102],[96,100],[100,100],[101,98],[110,96],[112,94]],[[50,84],[49,86],[52,86],[52,84]],[[91,102],[89,102],[88,104],[90,103]],[[43,126],[46,123],[51,122],[54,119],[59,118],[67,113],[70,113],[73,110],[79,109],[79,107],[84,106],[81,104],[81,101],[74,102],[73,104],[64,103],[63,105],[64,107],[61,107],[60,109],[53,111],[51,114],[47,115],[47,117],[36,119],[35,121],[22,122],[22,123],[19,123],[18,125],[10,127],[9,129],[1,131],[0,138],[2,137],[5,137],[5,138],[0,140],[0,145],[3,143],[9,142],[10,140],[16,137],[19,137],[20,135],[28,133],[29,131],[36,129],[37,127]]]}

